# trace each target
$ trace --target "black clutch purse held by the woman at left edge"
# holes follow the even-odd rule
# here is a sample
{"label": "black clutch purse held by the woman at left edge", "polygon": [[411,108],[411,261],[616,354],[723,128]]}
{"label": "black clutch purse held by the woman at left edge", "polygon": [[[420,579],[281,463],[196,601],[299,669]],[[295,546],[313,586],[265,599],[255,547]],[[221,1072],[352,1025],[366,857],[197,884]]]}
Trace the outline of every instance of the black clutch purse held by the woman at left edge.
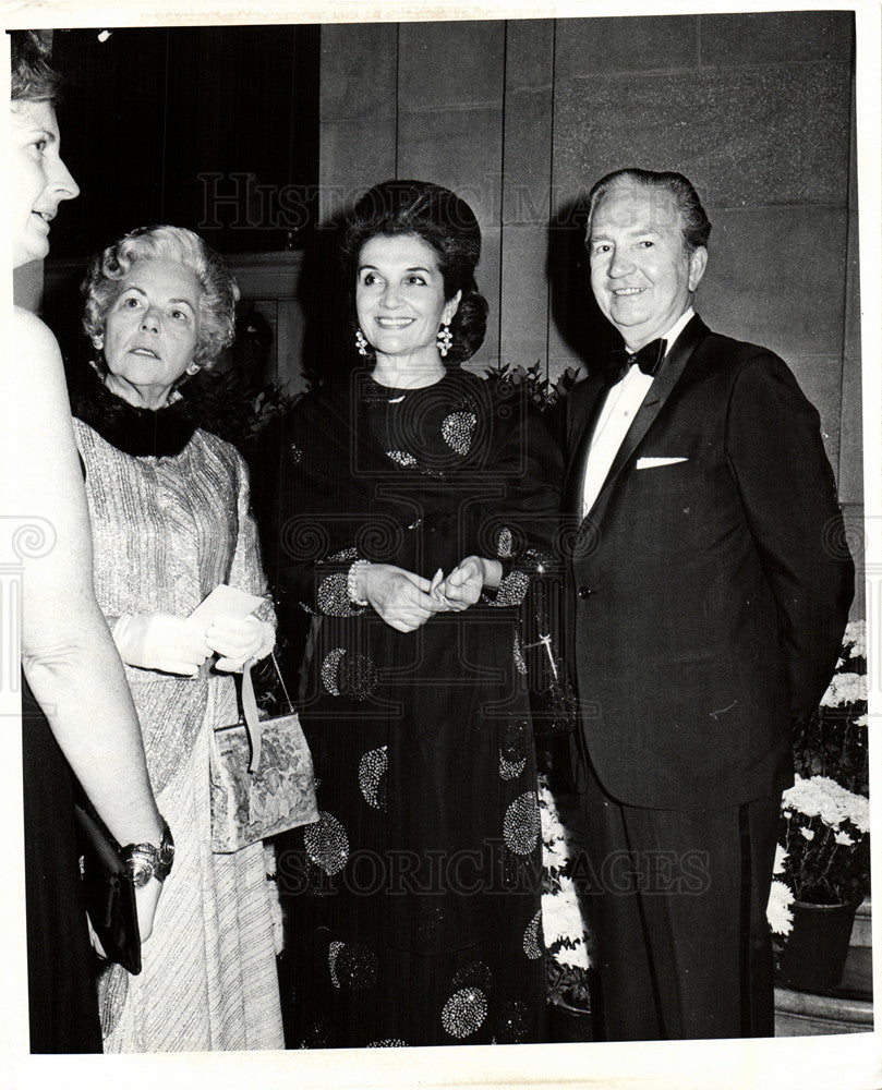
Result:
{"label": "black clutch purse held by the woman at left edge", "polygon": [[141,932],[137,927],[135,886],[119,856],[119,846],[80,803],[74,803],[80,871],[86,911],[109,961],[133,976],[141,972]]}

